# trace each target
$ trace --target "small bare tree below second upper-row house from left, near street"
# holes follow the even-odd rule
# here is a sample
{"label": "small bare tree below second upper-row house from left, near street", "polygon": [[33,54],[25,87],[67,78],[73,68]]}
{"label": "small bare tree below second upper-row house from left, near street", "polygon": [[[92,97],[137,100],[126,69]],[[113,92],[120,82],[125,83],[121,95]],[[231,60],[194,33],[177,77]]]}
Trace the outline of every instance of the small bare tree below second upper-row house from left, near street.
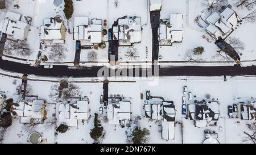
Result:
{"label": "small bare tree below second upper-row house from left, near street", "polygon": [[49,59],[56,62],[64,60],[64,58],[66,57],[64,50],[65,49],[62,44],[56,44],[52,46],[49,53]]}

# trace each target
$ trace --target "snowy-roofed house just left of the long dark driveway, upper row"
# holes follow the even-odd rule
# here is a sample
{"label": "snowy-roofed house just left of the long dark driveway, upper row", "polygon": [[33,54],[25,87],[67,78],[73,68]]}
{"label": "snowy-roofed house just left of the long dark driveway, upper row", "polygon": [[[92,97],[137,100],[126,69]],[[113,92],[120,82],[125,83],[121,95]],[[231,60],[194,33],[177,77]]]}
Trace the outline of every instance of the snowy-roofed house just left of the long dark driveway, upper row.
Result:
{"label": "snowy-roofed house just left of the long dark driveway, upper row", "polygon": [[118,25],[113,27],[113,40],[119,40],[120,45],[140,43],[141,31],[141,18],[126,16],[118,19]]}

